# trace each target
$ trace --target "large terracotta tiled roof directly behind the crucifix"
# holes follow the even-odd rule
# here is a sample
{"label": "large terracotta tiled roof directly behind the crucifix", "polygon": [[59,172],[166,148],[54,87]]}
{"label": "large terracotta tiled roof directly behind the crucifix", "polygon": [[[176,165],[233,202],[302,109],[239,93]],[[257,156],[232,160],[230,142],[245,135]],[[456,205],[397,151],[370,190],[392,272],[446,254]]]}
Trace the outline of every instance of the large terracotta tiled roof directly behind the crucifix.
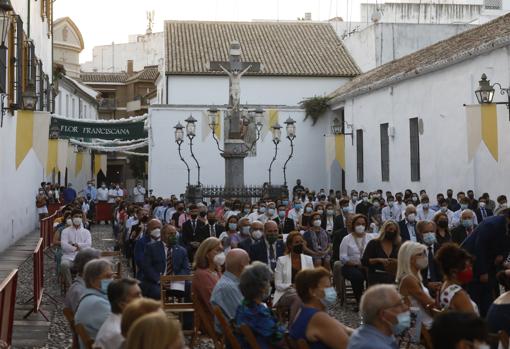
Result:
{"label": "large terracotta tiled roof directly behind the crucifix", "polygon": [[328,23],[165,22],[167,74],[219,74],[211,61],[227,61],[230,43],[244,61],[260,62],[252,75],[345,76],[359,69]]}

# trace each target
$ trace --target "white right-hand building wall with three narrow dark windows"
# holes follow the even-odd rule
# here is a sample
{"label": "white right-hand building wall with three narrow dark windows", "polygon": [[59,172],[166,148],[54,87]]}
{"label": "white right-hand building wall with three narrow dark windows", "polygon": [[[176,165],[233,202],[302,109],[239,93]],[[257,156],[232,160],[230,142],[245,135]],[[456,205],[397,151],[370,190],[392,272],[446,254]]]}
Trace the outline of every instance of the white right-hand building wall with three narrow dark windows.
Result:
{"label": "white right-hand building wall with three narrow dark windows", "polygon": [[[364,181],[356,177],[356,141],[346,139],[348,189],[398,191],[426,189],[429,193],[473,189],[492,197],[510,193],[510,122],[508,110],[498,106],[499,161],[480,144],[468,160],[467,121],[463,104],[476,104],[474,90],[482,73],[492,82],[510,84],[510,48],[498,49],[451,67],[406,80],[345,102],[345,117],[364,134]],[[496,100],[504,97],[496,94]],[[411,182],[409,119],[423,119],[420,136],[421,180]],[[390,181],[381,181],[379,125],[395,128],[390,138]]]}

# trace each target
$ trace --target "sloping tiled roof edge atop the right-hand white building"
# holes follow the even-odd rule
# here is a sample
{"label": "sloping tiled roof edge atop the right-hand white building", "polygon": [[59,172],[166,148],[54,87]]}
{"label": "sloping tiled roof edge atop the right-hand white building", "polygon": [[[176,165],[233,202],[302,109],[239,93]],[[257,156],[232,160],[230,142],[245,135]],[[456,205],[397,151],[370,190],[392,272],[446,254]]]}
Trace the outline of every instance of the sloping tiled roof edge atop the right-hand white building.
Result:
{"label": "sloping tiled roof edge atop the right-hand white building", "polygon": [[332,104],[510,45],[510,14],[361,74],[331,94]]}

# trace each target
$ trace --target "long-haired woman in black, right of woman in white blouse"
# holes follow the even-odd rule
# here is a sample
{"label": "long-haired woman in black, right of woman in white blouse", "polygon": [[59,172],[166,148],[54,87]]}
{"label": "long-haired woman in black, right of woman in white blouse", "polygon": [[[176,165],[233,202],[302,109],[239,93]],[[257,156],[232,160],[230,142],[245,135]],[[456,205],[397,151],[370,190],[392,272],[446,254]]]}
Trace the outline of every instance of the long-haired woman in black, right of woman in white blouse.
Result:
{"label": "long-haired woman in black, right of woman in white blouse", "polygon": [[[387,220],[383,223],[379,236],[368,242],[361,263],[368,268],[370,285],[395,283],[400,241],[397,222]],[[392,272],[389,272],[390,268],[393,269]]]}

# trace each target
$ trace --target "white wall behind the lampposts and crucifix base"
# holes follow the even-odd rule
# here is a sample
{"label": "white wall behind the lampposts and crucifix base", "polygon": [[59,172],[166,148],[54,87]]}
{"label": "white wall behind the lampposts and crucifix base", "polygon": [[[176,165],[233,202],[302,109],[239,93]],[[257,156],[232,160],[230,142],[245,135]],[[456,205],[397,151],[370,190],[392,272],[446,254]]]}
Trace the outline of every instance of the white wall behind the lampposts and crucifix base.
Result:
{"label": "white wall behind the lampposts and crucifix base", "polygon": [[[200,163],[201,182],[205,185],[224,185],[224,159],[220,156],[212,135],[209,134],[202,141],[202,115],[205,110],[206,107],[177,108],[162,105],[150,108],[152,137],[149,147],[149,188],[154,190],[155,195],[167,197],[170,194],[180,194],[185,191],[186,167],[177,153],[173,126],[178,121],[184,124],[184,119],[190,114],[198,119],[197,136],[193,142],[193,151]],[[322,188],[327,181],[327,172],[324,165],[324,134],[328,127],[328,121],[319,121],[312,127],[310,120],[303,121],[303,110],[281,108],[278,122],[284,126],[283,122],[289,116],[296,120],[297,137],[294,141],[294,157],[287,165],[287,183],[292,187],[296,179],[301,178],[304,185],[310,188]],[[286,135],[284,129],[282,135]],[[223,146],[223,138],[220,144]],[[182,154],[191,168],[191,183],[196,184],[196,164],[190,156],[187,138],[182,145]],[[284,138],[278,147],[277,160],[272,167],[272,183],[275,185],[283,184],[282,168],[289,154],[290,143]],[[257,144],[257,156],[245,159],[246,185],[262,185],[268,181],[268,168],[273,155],[274,144],[269,132]]]}

